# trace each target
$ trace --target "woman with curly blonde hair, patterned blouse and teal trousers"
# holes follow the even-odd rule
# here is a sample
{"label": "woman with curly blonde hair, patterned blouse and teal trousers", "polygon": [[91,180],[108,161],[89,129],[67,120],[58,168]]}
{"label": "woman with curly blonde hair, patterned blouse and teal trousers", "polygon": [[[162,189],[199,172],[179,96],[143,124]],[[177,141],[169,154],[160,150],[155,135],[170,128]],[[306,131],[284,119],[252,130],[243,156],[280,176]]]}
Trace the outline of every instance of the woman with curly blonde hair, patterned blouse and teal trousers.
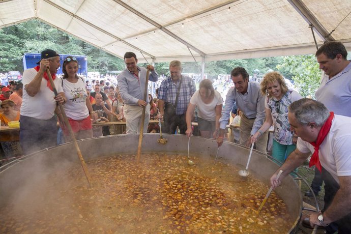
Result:
{"label": "woman with curly blonde hair, patterned blouse and teal trousers", "polygon": [[287,156],[296,149],[298,141],[298,136],[290,130],[287,119],[288,107],[302,97],[298,92],[288,89],[283,76],[278,72],[269,72],[265,75],[261,81],[261,92],[267,95],[266,120],[251,137],[251,143],[256,142],[273,125],[272,157],[284,163]]}

